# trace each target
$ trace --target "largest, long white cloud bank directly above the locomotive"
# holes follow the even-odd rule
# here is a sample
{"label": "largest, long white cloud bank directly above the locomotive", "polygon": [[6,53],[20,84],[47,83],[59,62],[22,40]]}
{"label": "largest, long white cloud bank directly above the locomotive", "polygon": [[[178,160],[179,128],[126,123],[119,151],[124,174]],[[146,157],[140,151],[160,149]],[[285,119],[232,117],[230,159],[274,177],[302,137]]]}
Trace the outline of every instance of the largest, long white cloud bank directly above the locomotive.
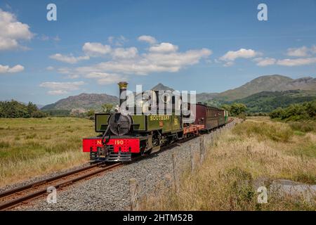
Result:
{"label": "largest, long white cloud bank directly above the locomotive", "polygon": [[[127,75],[148,75],[153,72],[178,72],[199,63],[211,55],[209,49],[178,51],[173,44],[157,44],[158,49],[138,54],[136,47],[112,49],[108,60],[103,63],[77,68],[60,68],[58,72],[68,78],[86,77],[97,79],[99,84],[110,84]],[[159,49],[160,48],[160,49]]]}

